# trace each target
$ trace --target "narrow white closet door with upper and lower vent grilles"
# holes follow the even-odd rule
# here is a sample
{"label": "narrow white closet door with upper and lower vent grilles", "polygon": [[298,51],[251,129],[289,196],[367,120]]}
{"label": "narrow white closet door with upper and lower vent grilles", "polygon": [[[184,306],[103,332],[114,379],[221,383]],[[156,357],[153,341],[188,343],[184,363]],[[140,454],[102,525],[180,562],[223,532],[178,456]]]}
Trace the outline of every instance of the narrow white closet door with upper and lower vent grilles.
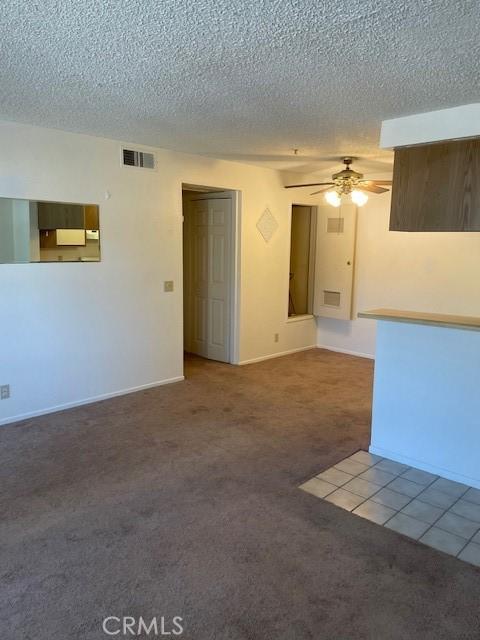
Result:
{"label": "narrow white closet door with upper and lower vent grilles", "polygon": [[314,315],[350,320],[357,208],[318,207]]}

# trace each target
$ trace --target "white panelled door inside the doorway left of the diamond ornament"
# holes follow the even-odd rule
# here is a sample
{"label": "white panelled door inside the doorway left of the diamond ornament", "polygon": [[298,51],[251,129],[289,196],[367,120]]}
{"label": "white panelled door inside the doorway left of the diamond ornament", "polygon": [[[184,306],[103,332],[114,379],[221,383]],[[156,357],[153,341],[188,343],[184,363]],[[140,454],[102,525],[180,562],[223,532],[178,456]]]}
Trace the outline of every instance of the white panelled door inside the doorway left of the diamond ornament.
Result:
{"label": "white panelled door inside the doorway left of the diamond ornament", "polygon": [[186,348],[230,362],[231,199],[192,200],[185,233]]}

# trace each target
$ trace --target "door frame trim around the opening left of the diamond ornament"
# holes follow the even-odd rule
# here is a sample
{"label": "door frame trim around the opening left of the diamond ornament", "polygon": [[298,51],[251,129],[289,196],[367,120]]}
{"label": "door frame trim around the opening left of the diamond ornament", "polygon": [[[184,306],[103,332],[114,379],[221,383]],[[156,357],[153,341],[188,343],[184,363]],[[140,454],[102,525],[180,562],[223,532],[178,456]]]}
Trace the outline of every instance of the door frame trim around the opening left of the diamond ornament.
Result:
{"label": "door frame trim around the opening left of the diamond ornament", "polygon": [[[182,239],[184,238],[184,211],[183,211],[183,192],[184,191],[200,191],[205,194],[204,199],[212,199],[212,193],[218,194],[218,197],[230,198],[232,203],[232,224],[231,224],[231,256],[230,256],[230,339],[229,339],[229,363],[239,364],[240,362],[240,229],[241,229],[241,191],[236,189],[223,189],[221,187],[209,187],[206,185],[197,185],[183,182],[181,184],[180,199],[182,209]],[[202,195],[198,194],[197,198],[201,200]],[[182,283],[184,281],[185,256],[183,253],[184,243],[182,241]],[[185,322],[185,298],[182,292],[182,328]],[[182,360],[183,351],[185,349],[184,332],[182,331]]]}

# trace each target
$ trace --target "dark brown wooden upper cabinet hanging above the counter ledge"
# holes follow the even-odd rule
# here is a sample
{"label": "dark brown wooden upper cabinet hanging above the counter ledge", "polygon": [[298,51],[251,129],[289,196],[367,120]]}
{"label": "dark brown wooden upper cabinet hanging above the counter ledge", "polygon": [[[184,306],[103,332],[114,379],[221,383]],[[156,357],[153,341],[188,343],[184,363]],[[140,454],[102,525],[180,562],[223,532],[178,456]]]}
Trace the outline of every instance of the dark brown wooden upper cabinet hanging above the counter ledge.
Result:
{"label": "dark brown wooden upper cabinet hanging above the counter ledge", "polygon": [[480,231],[480,138],[395,149],[390,231]]}

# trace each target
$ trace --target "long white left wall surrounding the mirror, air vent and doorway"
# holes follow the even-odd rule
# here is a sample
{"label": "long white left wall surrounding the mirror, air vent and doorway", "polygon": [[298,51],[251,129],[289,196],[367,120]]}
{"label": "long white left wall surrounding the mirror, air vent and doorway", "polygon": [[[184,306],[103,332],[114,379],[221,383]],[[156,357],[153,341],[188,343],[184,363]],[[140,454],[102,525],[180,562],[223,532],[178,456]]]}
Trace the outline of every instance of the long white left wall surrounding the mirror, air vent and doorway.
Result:
{"label": "long white left wall surrounding the mirror, air vent and doorway", "polygon": [[[98,203],[102,238],[100,263],[0,265],[0,423],[182,376],[182,182],[241,191],[240,360],[315,344],[313,320],[286,322],[292,200],[279,174],[156,153],[157,171],[124,168],[119,142],[0,124],[0,196]],[[267,206],[268,244],[255,226]]]}

